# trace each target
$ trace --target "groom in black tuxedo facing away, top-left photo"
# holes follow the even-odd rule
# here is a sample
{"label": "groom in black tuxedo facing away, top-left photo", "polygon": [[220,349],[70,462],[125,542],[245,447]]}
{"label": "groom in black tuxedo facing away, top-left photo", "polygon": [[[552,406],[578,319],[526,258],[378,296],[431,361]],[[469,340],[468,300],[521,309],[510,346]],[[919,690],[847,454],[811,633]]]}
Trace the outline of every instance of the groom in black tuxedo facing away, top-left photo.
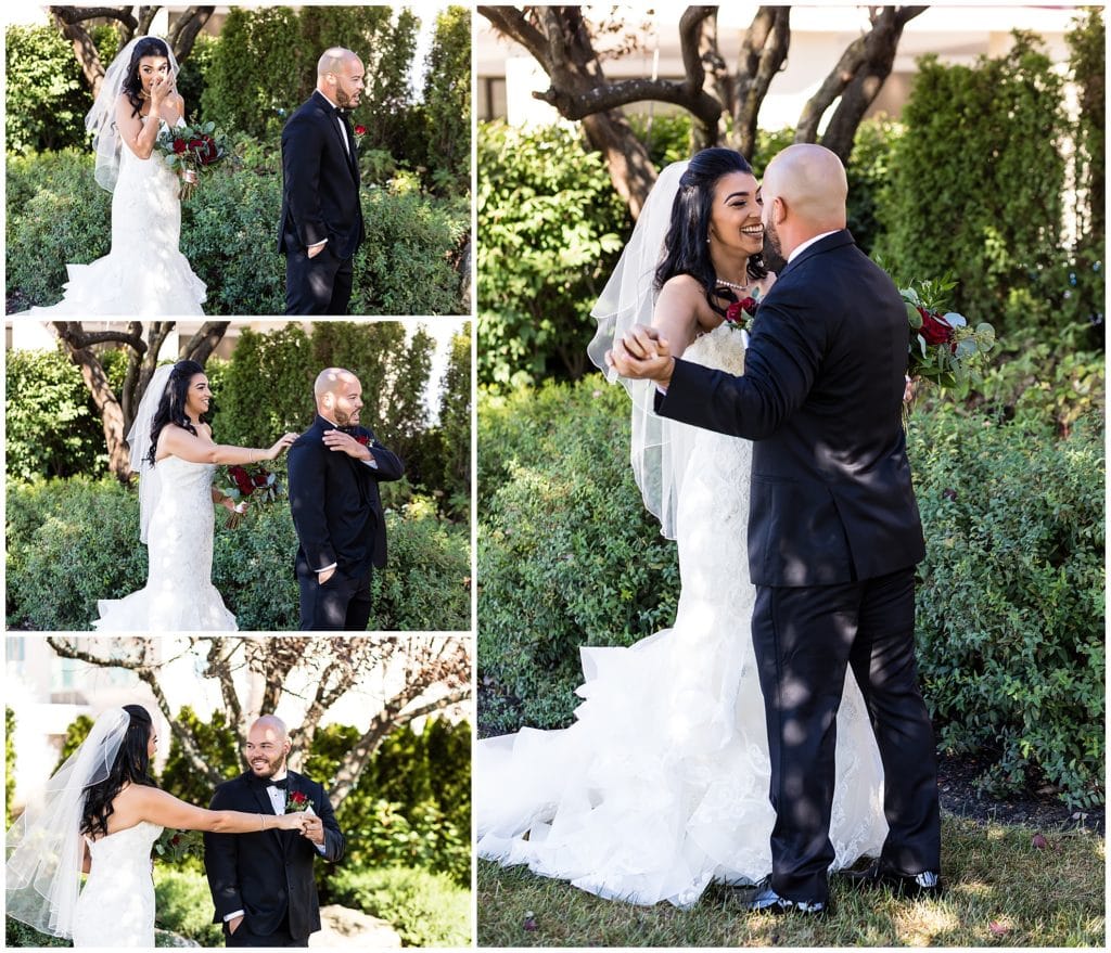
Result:
{"label": "groom in black tuxedo facing away, top-left photo", "polygon": [[278,250],[286,253],[287,314],[347,314],[352,259],[366,237],[359,159],[346,110],[359,104],[362,61],[332,47],[317,63],[317,89],[281,133]]}

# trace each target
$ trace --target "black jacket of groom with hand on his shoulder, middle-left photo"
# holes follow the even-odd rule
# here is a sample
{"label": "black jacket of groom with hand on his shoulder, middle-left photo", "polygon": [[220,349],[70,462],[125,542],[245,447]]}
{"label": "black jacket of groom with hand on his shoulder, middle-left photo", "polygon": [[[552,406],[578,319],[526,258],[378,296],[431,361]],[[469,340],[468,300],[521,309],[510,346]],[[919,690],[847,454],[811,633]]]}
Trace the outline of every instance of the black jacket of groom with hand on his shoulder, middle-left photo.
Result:
{"label": "black jacket of groom with hand on his shoulder, middle-left photo", "polygon": [[317,417],[289,450],[289,503],[301,545],[298,575],[337,564],[347,575],[386,565],[386,516],[379,481],[400,480],[404,464],[364,427],[353,435],[366,441],[378,469],[329,450],[324,432],[334,427]]}

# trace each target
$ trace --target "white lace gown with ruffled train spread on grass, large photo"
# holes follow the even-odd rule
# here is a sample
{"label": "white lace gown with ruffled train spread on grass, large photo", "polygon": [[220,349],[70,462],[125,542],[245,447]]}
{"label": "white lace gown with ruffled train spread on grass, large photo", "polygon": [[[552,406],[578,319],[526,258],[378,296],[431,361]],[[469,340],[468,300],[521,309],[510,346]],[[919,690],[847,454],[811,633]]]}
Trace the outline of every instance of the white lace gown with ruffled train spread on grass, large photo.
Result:
{"label": "white lace gown with ruffled train spread on grass, large photo", "polygon": [[[723,324],[683,358],[740,373],[741,335]],[[749,625],[751,444],[701,429],[692,440],[674,625],[628,649],[583,648],[575,723],[480,741],[474,796],[481,856],[599,896],[681,907],[711,881],[770,873],[774,822]],[[835,790],[830,836],[844,866],[878,854],[887,834],[882,766],[851,671]]]}

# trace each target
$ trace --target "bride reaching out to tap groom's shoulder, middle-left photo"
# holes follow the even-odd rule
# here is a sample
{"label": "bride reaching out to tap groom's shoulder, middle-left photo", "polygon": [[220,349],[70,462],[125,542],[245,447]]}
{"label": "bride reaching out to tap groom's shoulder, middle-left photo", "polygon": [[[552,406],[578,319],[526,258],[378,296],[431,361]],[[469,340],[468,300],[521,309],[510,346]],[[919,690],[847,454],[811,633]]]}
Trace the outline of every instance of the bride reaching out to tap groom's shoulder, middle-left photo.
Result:
{"label": "bride reaching out to tap groom's shoulder, middle-left photo", "polygon": [[212,504],[232,511],[212,485],[218,464],[273,460],[297,439],[267,450],[218,444],[202,421],[212,399],[204,369],[178,361],[154,371],[128,433],[139,473],[139,539],[147,544],[147,585],[124,599],[100,600],[93,628],[103,631],[234,630],[236,616],[212,585]]}

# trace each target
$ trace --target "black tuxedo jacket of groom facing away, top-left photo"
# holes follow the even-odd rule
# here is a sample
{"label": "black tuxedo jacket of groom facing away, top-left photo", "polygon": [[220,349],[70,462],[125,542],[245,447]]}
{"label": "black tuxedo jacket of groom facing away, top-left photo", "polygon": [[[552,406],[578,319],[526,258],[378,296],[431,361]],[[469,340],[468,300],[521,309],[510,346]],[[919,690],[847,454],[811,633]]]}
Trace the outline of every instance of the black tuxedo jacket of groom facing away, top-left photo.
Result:
{"label": "black tuxedo jacket of groom facing away, top-left photo", "polygon": [[336,113],[313,92],[281,133],[281,224],[278,250],[304,251],[328,239],[327,249],[349,259],[366,235],[359,204],[354,141],[343,147]]}

